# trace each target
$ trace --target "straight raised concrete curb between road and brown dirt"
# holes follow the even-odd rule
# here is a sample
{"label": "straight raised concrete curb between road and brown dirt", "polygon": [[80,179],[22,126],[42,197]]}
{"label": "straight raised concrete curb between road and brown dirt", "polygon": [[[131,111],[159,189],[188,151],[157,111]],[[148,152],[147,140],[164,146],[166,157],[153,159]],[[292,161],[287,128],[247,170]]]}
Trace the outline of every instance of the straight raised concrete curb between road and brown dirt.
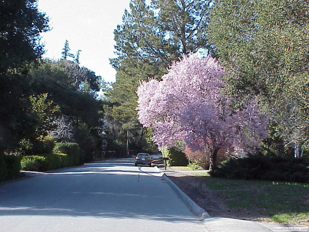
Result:
{"label": "straight raised concrete curb between road and brown dirt", "polygon": [[188,195],[186,195],[181,189],[172,182],[165,174],[163,174],[163,179],[168,183],[169,186],[176,192],[181,200],[188,205],[190,209],[199,217],[200,221],[203,221],[205,218],[209,218],[210,215],[201,207],[199,207]]}

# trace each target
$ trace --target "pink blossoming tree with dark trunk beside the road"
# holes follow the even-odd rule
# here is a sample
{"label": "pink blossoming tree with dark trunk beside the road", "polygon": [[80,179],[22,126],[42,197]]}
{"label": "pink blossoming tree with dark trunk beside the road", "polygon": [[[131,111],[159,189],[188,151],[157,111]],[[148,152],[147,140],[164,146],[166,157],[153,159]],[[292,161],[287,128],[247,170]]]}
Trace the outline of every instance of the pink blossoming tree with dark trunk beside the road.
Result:
{"label": "pink blossoming tree with dark trunk beside the road", "polygon": [[138,118],[154,130],[159,149],[183,140],[192,151],[210,154],[210,170],[216,167],[218,151],[259,146],[267,132],[266,118],[254,100],[247,108],[232,111],[231,100],[221,94],[223,67],[211,57],[184,55],[173,62],[162,81],[142,81],[137,89]]}

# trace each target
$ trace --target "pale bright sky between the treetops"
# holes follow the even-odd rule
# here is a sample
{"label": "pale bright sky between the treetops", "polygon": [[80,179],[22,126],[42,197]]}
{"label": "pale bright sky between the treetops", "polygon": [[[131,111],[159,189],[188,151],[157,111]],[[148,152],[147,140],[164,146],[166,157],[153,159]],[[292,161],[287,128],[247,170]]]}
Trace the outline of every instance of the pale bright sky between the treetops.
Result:
{"label": "pale bright sky between the treetops", "polygon": [[108,58],[114,55],[114,29],[122,23],[130,0],[38,0],[38,9],[50,18],[51,31],[41,34],[44,57],[61,58],[62,48],[69,41],[70,53],[79,56],[84,66],[114,82],[116,71]]}

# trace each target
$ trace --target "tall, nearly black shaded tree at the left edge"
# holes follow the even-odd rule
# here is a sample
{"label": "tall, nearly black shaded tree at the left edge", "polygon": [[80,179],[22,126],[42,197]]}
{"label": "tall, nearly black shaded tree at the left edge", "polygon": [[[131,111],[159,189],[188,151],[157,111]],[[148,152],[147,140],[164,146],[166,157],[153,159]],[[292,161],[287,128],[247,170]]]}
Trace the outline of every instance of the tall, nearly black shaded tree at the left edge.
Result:
{"label": "tall, nearly black shaded tree at the left edge", "polygon": [[29,123],[28,65],[44,53],[40,33],[49,19],[35,0],[0,1],[0,152],[15,148],[35,128]]}

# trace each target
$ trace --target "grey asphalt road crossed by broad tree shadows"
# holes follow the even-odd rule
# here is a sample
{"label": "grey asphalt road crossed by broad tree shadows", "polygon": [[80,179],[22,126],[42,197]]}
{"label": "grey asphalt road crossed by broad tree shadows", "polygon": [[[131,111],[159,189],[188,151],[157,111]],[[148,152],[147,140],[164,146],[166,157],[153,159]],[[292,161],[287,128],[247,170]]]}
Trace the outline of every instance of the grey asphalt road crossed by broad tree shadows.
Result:
{"label": "grey asphalt road crossed by broad tree shadows", "polygon": [[162,174],[111,159],[0,185],[0,232],[205,231]]}

